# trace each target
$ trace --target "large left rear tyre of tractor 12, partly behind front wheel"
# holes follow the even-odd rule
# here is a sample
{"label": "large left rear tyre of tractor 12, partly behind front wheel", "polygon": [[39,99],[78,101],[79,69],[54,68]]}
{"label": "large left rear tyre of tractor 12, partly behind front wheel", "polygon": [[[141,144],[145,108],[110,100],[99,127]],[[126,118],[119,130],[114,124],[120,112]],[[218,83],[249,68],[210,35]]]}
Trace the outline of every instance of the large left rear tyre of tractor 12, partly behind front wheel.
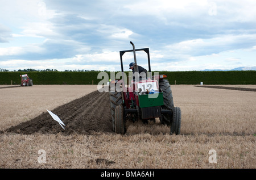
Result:
{"label": "large left rear tyre of tractor 12, partly behind front wheel", "polygon": [[112,115],[113,131],[115,131],[115,107],[123,104],[122,92],[110,91],[109,96],[110,96],[110,108],[111,108],[111,115]]}

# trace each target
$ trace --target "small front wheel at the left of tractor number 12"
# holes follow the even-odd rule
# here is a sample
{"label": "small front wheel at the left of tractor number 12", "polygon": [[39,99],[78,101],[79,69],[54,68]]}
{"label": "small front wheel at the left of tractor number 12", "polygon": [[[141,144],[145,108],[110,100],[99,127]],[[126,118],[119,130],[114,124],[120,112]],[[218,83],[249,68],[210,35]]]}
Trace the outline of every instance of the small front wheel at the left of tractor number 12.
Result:
{"label": "small front wheel at the left of tractor number 12", "polygon": [[126,125],[125,119],[123,118],[123,106],[118,105],[115,107],[115,133],[125,134]]}

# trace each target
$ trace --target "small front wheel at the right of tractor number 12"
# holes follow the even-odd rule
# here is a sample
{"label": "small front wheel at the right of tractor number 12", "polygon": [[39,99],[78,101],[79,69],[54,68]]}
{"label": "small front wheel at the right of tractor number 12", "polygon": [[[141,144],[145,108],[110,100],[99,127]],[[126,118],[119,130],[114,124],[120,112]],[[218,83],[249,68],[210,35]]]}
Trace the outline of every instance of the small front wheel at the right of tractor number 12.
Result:
{"label": "small front wheel at the right of tractor number 12", "polygon": [[172,108],[172,125],[170,134],[180,134],[180,126],[181,126],[181,110],[179,107]]}

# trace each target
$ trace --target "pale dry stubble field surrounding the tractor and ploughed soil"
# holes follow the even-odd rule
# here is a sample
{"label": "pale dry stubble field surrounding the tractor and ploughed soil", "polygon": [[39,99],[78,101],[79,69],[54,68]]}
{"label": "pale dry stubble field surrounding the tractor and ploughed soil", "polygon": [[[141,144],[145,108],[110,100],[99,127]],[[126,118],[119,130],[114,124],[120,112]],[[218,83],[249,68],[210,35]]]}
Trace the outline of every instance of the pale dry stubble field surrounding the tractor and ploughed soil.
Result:
{"label": "pale dry stubble field surrounding the tractor and ploughed soil", "polygon": [[[0,168],[256,168],[256,92],[193,85],[171,88],[175,106],[181,108],[181,135],[177,136],[169,135],[170,128],[158,121],[127,122],[123,136],[5,132],[46,109],[89,94],[97,86],[0,89]],[[216,161],[209,161],[212,157]]]}

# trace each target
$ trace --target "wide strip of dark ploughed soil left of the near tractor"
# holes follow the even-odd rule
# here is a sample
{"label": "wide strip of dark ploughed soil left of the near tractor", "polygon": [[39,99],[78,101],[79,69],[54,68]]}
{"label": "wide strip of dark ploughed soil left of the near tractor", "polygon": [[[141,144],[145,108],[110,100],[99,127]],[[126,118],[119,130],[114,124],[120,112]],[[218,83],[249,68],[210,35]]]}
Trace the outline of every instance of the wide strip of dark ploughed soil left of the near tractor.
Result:
{"label": "wide strip of dark ploughed soil left of the near tractor", "polygon": [[93,91],[84,97],[55,108],[52,112],[59,116],[65,124],[65,129],[46,111],[32,120],[18,124],[6,131],[22,134],[63,133],[64,135],[112,132],[109,93]]}

